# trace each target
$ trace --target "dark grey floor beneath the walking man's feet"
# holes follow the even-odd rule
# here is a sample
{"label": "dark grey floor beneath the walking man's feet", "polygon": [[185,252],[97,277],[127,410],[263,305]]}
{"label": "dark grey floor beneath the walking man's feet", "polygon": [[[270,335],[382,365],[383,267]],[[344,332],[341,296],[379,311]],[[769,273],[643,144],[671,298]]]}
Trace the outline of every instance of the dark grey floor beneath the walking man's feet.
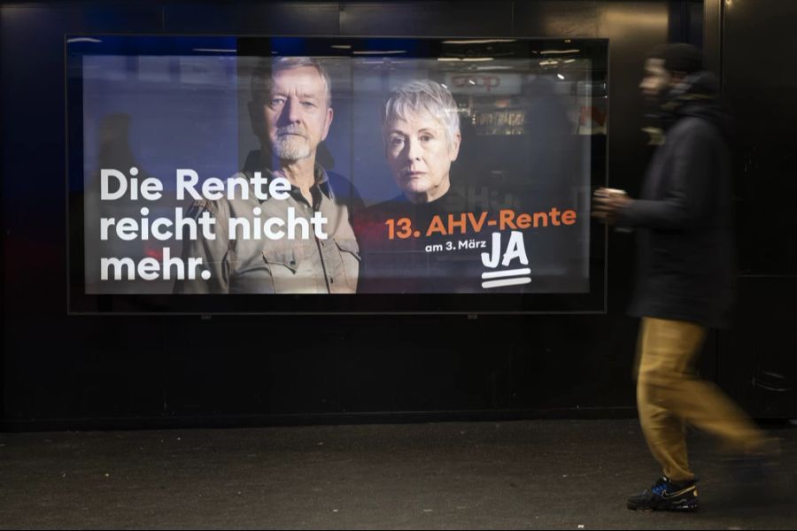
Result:
{"label": "dark grey floor beneath the walking man's feet", "polygon": [[757,502],[690,435],[693,514],[626,510],[659,473],[628,419],[0,434],[0,527],[794,528],[797,429],[770,433]]}

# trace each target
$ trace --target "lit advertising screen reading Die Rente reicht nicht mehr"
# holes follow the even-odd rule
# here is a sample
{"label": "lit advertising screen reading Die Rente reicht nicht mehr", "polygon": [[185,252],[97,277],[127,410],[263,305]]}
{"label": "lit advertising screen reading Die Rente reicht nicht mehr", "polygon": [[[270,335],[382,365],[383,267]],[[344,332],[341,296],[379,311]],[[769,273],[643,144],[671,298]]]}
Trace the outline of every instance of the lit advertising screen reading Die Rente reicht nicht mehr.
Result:
{"label": "lit advertising screen reading Die Rente reicht nicht mehr", "polygon": [[67,37],[72,289],[589,294],[598,44]]}

